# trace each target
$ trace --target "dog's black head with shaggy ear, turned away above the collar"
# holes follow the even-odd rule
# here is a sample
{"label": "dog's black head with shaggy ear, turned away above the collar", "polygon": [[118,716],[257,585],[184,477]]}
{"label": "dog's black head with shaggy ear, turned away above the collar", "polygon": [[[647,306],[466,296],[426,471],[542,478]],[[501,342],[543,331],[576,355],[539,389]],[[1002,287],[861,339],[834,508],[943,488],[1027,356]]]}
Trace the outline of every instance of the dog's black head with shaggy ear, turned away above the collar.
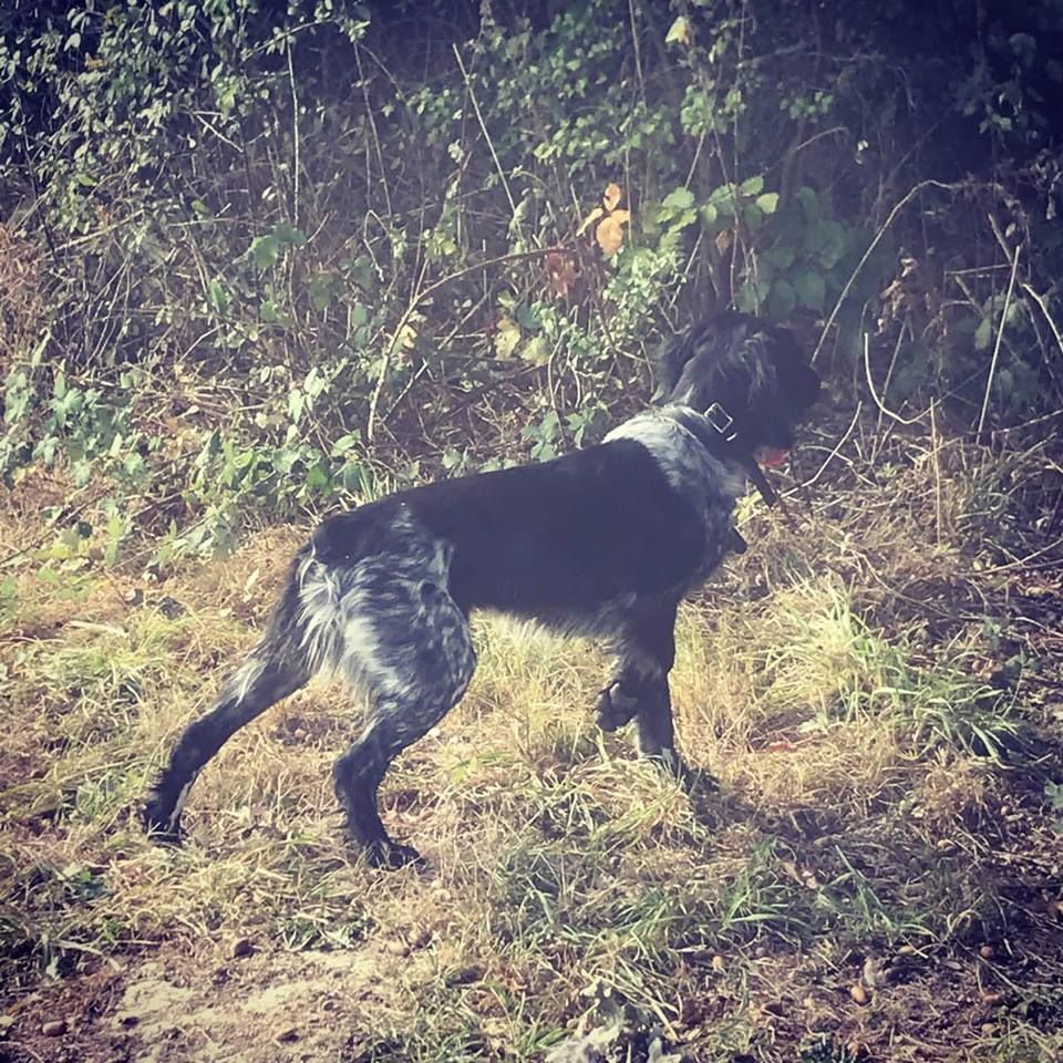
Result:
{"label": "dog's black head with shaggy ear, turned away above the collar", "polygon": [[713,404],[733,419],[737,442],[758,453],[788,451],[794,425],[819,394],[819,376],[793,336],[727,311],[667,340],[657,357],[656,402],[704,413]]}

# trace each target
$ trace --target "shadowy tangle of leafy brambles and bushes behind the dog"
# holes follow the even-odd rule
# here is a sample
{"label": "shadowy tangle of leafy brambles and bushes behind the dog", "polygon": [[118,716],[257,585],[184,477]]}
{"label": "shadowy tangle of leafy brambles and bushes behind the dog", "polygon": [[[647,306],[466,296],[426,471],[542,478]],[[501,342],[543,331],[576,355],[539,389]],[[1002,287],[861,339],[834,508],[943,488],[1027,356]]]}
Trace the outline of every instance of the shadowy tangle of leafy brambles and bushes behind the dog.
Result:
{"label": "shadowy tangle of leafy brambles and bushes behind the dog", "polygon": [[0,468],[214,549],[581,443],[729,305],[839,396],[1054,413],[1061,44],[1053,0],[6,4]]}

